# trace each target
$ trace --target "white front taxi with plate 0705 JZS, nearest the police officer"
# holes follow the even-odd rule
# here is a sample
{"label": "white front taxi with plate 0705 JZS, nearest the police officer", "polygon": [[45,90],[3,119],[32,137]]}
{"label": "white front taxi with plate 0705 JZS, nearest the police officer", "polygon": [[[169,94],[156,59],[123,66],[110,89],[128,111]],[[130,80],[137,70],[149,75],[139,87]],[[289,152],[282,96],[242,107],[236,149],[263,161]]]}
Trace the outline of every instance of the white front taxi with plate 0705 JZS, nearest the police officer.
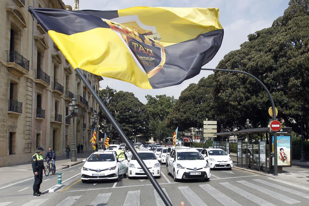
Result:
{"label": "white front taxi with plate 0705 JZS, nearest the police officer", "polygon": [[114,151],[94,152],[89,158],[83,159],[81,179],[87,180],[117,179],[128,170],[128,160],[117,160]]}

